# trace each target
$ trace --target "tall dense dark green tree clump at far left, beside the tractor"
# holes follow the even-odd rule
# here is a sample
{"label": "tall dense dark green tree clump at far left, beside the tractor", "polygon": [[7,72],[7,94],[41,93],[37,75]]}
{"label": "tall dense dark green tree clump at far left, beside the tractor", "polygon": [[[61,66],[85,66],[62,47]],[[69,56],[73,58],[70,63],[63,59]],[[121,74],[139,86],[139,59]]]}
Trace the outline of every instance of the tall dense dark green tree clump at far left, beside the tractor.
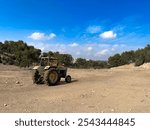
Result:
{"label": "tall dense dark green tree clump at far left, beside the tractor", "polygon": [[5,41],[0,43],[0,62],[3,64],[29,67],[39,62],[40,49],[28,46],[23,41]]}

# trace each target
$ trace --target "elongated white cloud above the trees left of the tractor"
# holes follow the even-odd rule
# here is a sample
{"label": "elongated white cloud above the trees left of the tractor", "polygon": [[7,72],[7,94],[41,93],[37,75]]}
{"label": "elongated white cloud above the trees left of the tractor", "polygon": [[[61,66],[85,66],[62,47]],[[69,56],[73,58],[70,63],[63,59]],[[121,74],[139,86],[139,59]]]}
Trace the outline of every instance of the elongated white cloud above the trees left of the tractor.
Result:
{"label": "elongated white cloud above the trees left of the tractor", "polygon": [[33,40],[50,40],[56,37],[56,34],[50,33],[49,35],[46,35],[45,33],[40,32],[34,32],[28,38],[31,38]]}

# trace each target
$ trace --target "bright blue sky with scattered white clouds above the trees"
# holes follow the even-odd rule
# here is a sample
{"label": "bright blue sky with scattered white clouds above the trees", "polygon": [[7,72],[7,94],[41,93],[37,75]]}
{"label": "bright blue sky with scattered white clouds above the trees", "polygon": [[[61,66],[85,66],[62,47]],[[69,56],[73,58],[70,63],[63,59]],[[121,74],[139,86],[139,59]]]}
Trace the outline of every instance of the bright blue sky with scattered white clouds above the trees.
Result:
{"label": "bright blue sky with scattered white clouds above the trees", "polygon": [[149,0],[0,0],[0,41],[105,60],[150,43]]}

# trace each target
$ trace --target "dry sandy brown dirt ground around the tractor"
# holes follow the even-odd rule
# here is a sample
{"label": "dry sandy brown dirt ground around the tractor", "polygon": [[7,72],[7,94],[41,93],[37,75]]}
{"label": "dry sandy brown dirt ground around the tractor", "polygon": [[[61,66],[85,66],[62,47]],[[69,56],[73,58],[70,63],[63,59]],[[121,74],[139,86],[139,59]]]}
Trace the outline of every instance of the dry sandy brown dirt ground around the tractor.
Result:
{"label": "dry sandy brown dirt ground around the tractor", "polygon": [[150,69],[69,69],[72,83],[32,83],[31,70],[0,65],[0,112],[150,112]]}

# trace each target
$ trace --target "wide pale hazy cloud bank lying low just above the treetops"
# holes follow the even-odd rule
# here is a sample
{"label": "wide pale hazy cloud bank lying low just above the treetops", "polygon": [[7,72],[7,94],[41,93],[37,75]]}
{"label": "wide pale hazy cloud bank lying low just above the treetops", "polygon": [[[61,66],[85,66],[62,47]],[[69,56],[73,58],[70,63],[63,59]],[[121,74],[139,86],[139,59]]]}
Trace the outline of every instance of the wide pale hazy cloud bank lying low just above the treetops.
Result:
{"label": "wide pale hazy cloud bank lying low just above the treetops", "polygon": [[[77,44],[77,43],[76,43]],[[32,42],[30,45],[34,45],[36,48],[42,49],[43,52],[59,51],[60,53],[71,54],[74,58],[85,58],[93,60],[107,60],[107,58],[116,53],[135,49],[135,46],[129,46],[124,44],[103,44],[103,43],[91,43],[91,44],[79,44],[77,47],[71,47],[70,45],[76,44],[62,44],[62,43],[44,43],[44,42]]]}

